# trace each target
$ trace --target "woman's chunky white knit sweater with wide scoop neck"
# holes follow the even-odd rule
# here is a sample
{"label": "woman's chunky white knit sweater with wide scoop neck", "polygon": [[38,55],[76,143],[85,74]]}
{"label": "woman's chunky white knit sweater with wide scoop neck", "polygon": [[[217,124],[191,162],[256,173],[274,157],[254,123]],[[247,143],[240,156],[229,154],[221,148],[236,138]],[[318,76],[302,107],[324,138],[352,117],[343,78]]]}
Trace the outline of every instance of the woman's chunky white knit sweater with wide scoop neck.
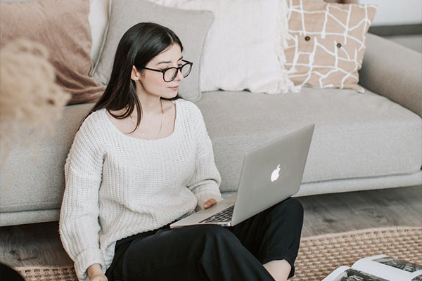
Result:
{"label": "woman's chunky white knit sweater with wide scoop neck", "polygon": [[203,115],[188,100],[174,100],[170,136],[127,136],[106,115],[92,112],[76,133],[65,163],[59,233],[79,280],[113,261],[115,242],[165,226],[222,200],[221,176]]}

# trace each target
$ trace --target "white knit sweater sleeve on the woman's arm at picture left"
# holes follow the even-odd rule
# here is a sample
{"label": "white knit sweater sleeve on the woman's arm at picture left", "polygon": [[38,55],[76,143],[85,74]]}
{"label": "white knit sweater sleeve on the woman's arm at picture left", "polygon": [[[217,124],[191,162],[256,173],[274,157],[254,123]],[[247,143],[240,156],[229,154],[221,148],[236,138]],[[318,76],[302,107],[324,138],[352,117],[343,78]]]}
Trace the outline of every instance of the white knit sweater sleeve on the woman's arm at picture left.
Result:
{"label": "white knit sweater sleeve on the woman's arm at picture left", "polygon": [[89,280],[87,268],[94,263],[101,264],[105,271],[98,235],[103,156],[88,118],[77,131],[65,162],[65,192],[59,221],[60,240],[75,263],[79,280]]}

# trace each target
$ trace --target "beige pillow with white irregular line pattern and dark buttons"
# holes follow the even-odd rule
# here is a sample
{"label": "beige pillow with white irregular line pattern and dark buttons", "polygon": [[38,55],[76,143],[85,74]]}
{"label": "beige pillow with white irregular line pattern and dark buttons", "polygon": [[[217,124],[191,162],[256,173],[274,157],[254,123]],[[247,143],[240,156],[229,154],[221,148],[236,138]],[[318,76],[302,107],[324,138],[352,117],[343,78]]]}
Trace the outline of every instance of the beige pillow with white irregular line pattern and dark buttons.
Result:
{"label": "beige pillow with white irregular line pattern and dark buttons", "polygon": [[289,0],[286,69],[295,84],[354,89],[376,6]]}

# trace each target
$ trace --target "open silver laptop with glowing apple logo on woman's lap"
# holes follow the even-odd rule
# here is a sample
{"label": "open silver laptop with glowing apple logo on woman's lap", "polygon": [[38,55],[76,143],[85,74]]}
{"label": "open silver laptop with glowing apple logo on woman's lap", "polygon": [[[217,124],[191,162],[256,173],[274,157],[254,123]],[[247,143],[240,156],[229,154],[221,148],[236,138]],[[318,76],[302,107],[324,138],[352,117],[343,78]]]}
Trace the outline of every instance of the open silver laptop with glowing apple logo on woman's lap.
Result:
{"label": "open silver laptop with glowing apple logo on woman's lap", "polygon": [[315,124],[247,152],[238,192],[170,228],[197,224],[235,226],[299,191]]}

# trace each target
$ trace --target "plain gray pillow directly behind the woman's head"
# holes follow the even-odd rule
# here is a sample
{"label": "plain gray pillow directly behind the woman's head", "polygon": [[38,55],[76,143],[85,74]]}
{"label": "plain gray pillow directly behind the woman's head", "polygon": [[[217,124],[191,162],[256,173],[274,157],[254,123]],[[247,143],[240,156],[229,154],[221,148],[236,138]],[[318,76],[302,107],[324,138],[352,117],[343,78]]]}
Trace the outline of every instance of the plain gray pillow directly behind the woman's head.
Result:
{"label": "plain gray pillow directly behind the woman's head", "polygon": [[146,0],[112,1],[106,38],[94,67],[94,77],[101,84],[107,85],[123,34],[139,22],[155,22],[177,34],[184,47],[184,59],[193,62],[191,74],[181,84],[179,95],[186,100],[199,100],[200,58],[205,35],[213,18],[210,11],[165,7]]}

